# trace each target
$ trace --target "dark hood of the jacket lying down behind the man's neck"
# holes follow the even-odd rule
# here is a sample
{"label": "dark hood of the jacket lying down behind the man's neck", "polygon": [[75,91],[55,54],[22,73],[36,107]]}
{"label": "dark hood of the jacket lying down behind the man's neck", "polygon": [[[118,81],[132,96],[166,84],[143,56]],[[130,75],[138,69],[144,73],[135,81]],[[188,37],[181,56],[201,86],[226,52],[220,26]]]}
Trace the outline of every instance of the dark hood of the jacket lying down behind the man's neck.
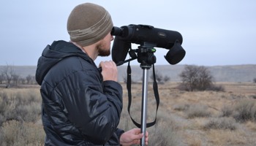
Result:
{"label": "dark hood of the jacket lying down behind the man's neck", "polygon": [[70,56],[79,56],[87,61],[93,62],[86,53],[71,42],[55,41],[52,45],[47,45],[42,51],[42,56],[37,62],[36,80],[39,85],[48,73],[49,69]]}

